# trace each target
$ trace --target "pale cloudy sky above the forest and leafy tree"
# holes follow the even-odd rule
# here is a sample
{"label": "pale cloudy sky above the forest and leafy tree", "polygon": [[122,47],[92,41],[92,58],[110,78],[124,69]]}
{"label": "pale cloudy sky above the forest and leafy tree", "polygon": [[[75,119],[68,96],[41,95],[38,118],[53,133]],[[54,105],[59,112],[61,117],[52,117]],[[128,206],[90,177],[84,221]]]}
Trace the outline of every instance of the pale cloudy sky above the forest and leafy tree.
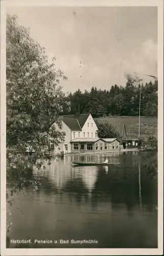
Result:
{"label": "pale cloudy sky above the forest and leafy tree", "polygon": [[64,92],[157,76],[157,7],[8,7],[67,76]]}

